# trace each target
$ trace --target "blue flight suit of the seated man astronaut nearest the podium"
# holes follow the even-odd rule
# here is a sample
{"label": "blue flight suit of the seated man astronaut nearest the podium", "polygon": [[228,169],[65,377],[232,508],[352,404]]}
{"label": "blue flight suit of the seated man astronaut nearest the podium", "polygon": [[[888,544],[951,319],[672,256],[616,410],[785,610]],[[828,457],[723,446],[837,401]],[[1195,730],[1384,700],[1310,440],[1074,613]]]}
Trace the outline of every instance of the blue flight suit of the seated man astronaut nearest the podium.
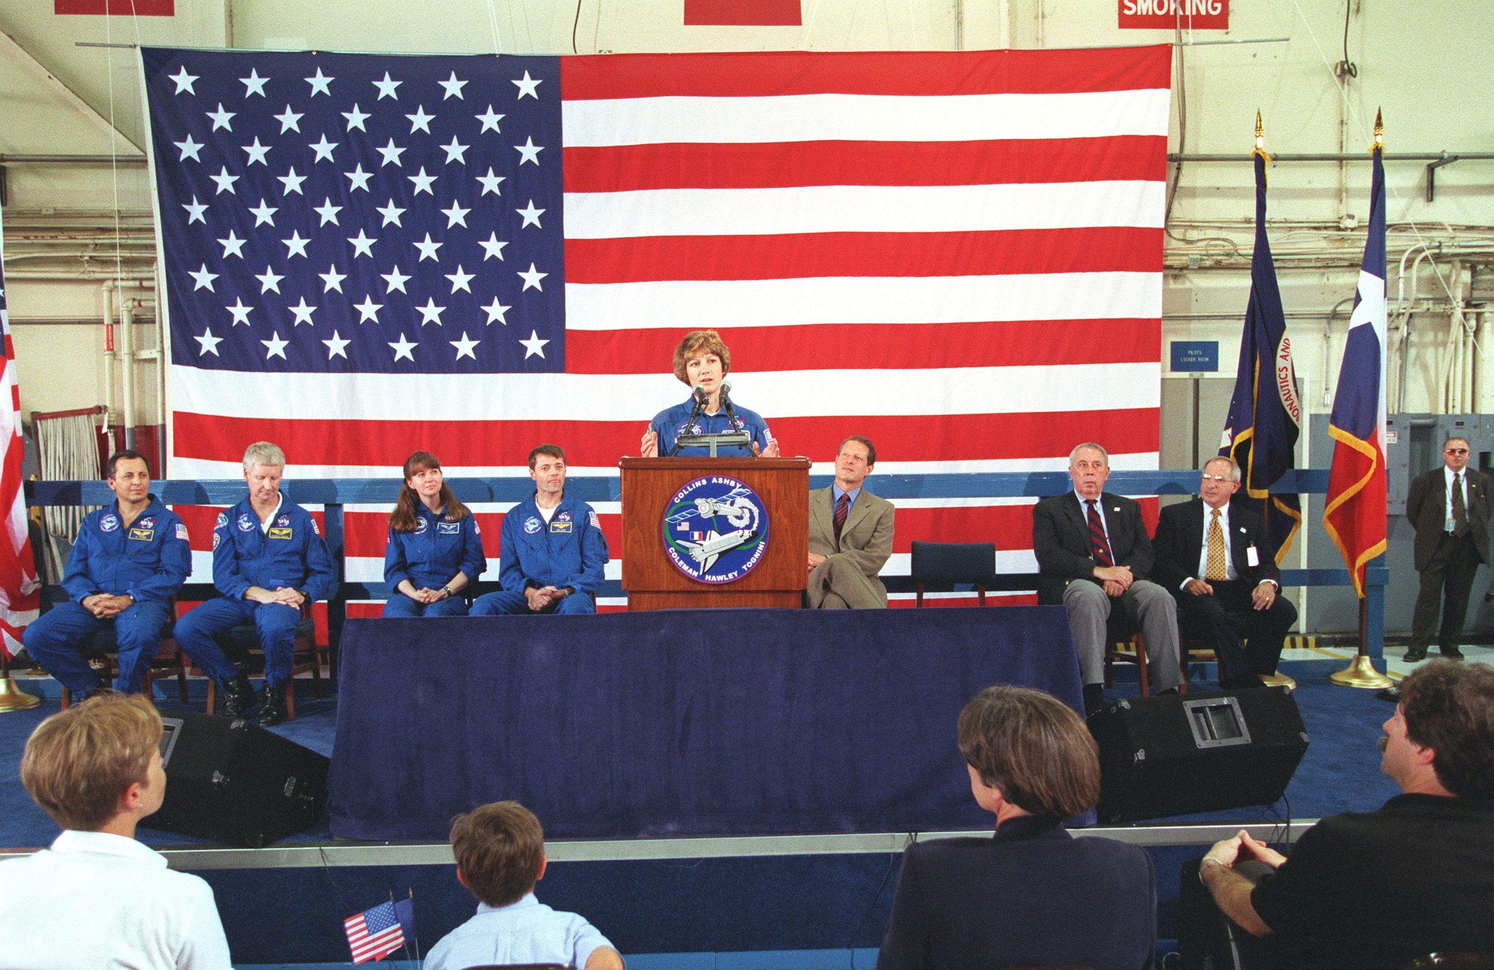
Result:
{"label": "blue flight suit of the seated man astronaut nearest the podium", "polygon": [[515,505],[503,516],[499,532],[498,578],[503,592],[478,596],[472,616],[529,613],[524,589],[572,587],[545,613],[596,613],[596,587],[607,565],[607,537],[596,513],[581,499],[560,496],[550,523],[535,499]]}

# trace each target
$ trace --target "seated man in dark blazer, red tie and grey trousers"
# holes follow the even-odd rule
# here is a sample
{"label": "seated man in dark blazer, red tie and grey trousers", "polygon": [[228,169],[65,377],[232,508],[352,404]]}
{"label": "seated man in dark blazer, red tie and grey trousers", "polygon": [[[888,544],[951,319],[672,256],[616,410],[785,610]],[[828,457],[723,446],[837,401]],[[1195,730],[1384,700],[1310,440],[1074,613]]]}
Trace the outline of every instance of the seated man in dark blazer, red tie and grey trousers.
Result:
{"label": "seated man in dark blazer, red tie and grey trousers", "polygon": [[1141,507],[1104,490],[1110,457],[1085,442],[1068,456],[1073,492],[1032,507],[1040,604],[1064,604],[1074,631],[1085,708],[1104,705],[1106,622],[1125,610],[1146,638],[1147,667],[1158,692],[1182,683],[1177,659],[1177,607],[1167,590],[1147,581],[1152,541]]}

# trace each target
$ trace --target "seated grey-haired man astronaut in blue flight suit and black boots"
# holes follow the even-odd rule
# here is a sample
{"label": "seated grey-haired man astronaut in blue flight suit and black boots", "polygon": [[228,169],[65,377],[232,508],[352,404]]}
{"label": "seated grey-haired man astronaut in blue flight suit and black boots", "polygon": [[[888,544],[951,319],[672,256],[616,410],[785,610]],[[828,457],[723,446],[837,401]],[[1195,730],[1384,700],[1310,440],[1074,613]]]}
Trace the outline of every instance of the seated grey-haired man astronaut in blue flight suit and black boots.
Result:
{"label": "seated grey-haired man astronaut in blue flight suit and black boots", "polygon": [[176,623],[176,646],[218,682],[220,714],[239,717],[254,707],[254,689],[214,640],[232,626],[254,623],[264,649],[264,704],[258,722],[285,720],[285,682],[296,653],[302,605],[330,598],[336,572],[321,529],[300,505],[281,495],[285,453],[269,441],[244,451],[249,496],[218,516],[212,531],[212,584],[220,599]]}

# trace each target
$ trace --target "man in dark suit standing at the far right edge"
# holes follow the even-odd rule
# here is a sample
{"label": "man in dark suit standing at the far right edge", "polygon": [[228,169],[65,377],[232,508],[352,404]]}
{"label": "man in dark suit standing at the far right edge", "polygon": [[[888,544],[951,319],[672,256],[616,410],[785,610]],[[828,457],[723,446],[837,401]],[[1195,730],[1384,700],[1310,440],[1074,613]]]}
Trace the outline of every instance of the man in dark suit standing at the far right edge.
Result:
{"label": "man in dark suit standing at the far right edge", "polygon": [[1421,572],[1407,661],[1427,658],[1439,611],[1442,656],[1463,659],[1458,637],[1469,611],[1473,574],[1481,562],[1490,560],[1490,477],[1469,468],[1466,438],[1448,438],[1442,462],[1442,468],[1416,475],[1406,493],[1406,517],[1416,531],[1413,562]]}

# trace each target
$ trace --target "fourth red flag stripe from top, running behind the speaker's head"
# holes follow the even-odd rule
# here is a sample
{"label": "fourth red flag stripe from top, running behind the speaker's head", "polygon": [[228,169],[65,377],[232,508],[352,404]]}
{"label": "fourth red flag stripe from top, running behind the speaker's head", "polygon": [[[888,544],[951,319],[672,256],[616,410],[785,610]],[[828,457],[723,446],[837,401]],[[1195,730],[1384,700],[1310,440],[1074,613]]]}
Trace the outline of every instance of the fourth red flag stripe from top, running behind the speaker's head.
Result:
{"label": "fourth red flag stripe from top, running behind the speaker's head", "polygon": [[[723,327],[720,335],[732,351],[732,368],[744,372],[780,360],[798,360],[801,369],[907,371],[1150,363],[1158,354],[1158,330],[1155,318],[995,320]],[[571,330],[566,371],[656,374],[680,336],[675,330]],[[680,398],[687,396],[681,389]]]}

